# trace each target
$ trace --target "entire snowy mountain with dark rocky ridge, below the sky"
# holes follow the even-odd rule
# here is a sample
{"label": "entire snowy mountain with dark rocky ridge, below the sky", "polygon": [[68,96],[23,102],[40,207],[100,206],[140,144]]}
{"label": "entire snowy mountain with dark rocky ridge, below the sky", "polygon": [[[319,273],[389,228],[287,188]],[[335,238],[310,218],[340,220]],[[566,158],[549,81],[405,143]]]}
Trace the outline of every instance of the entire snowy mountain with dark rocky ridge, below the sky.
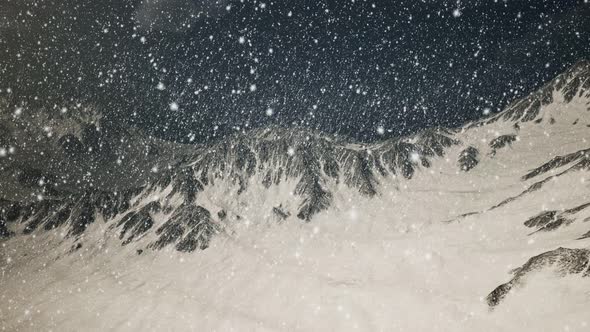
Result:
{"label": "entire snowy mountain with dark rocky ridge, below the sky", "polygon": [[590,289],[587,61],[501,113],[372,144],[273,127],[189,147],[3,112],[3,328],[588,326],[584,296],[515,317]]}

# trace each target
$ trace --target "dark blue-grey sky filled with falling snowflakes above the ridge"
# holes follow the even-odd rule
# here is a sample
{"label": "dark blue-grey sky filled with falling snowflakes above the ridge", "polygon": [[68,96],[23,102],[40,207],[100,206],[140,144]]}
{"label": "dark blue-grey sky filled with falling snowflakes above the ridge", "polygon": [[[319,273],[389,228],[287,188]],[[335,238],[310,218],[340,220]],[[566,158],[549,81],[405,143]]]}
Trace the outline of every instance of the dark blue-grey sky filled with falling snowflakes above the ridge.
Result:
{"label": "dark blue-grey sky filled with falling snowflakes above the ridge", "polygon": [[0,1],[15,107],[93,104],[179,140],[458,125],[584,57],[587,0]]}

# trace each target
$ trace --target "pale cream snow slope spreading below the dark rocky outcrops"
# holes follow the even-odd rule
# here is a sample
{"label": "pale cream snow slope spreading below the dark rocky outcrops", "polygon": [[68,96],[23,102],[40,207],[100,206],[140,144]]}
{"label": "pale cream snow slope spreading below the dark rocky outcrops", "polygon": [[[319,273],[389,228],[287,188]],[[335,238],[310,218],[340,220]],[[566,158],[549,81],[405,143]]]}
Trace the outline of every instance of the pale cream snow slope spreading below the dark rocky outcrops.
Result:
{"label": "pale cream snow slope spreading below the dark rocky outcrops", "polygon": [[[555,92],[527,121],[467,125],[411,179],[377,176],[376,195],[322,182],[330,204],[309,222],[295,217],[306,201],[293,179],[253,175],[238,194],[210,182],[195,204],[218,214],[219,234],[202,251],[154,249],[166,212],[124,246],[124,213],[78,237],[65,225],[23,235],[21,220],[0,242],[0,329],[589,331],[588,255],[558,249],[590,247],[588,106]],[[468,172],[457,167],[467,147],[479,151]],[[164,197],[178,208],[171,190],[154,186],[129,211]]]}

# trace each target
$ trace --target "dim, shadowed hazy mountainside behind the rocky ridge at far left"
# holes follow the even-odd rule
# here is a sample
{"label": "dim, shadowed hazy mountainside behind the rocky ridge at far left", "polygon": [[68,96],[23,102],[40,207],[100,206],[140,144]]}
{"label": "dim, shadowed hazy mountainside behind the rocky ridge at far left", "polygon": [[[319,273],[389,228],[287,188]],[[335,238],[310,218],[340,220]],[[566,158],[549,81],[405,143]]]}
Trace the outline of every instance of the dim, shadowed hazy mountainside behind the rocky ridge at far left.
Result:
{"label": "dim, shadowed hazy mountainside behind the rocky ridge at far left", "polygon": [[0,100],[0,198],[22,202],[135,188],[194,148],[103,119],[92,108],[30,110]]}

